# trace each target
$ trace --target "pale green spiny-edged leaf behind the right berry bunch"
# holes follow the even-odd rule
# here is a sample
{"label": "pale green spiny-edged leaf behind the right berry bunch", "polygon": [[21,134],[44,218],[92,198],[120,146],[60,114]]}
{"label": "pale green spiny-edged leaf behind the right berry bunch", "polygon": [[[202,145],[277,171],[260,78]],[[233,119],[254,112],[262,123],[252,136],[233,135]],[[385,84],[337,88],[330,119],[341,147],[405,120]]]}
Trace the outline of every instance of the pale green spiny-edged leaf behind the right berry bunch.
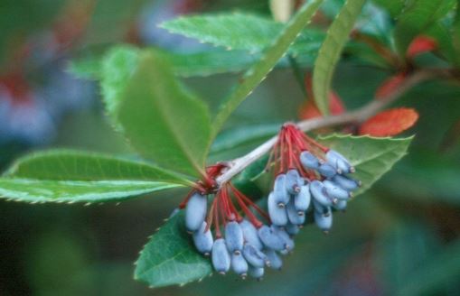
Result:
{"label": "pale green spiny-edged leaf behind the right berry bunch", "polygon": [[355,194],[359,195],[406,155],[412,137],[392,139],[335,134],[320,138],[320,141],[342,153],[356,167],[352,178],[362,182]]}

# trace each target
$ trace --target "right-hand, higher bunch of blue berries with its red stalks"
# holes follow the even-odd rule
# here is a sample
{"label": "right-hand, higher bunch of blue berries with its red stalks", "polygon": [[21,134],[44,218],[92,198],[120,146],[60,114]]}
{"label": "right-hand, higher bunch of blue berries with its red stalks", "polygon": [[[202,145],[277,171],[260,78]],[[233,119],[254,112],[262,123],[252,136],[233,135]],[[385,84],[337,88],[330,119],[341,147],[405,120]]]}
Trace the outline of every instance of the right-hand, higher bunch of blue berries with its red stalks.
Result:
{"label": "right-hand, higher bunch of blue berries with its red stalks", "polygon": [[340,153],[315,142],[296,125],[283,125],[268,165],[275,164],[277,177],[268,196],[273,225],[298,232],[313,204],[314,222],[325,233],[333,224],[332,210],[344,210],[352,191],[361,186],[347,174],[354,168]]}

